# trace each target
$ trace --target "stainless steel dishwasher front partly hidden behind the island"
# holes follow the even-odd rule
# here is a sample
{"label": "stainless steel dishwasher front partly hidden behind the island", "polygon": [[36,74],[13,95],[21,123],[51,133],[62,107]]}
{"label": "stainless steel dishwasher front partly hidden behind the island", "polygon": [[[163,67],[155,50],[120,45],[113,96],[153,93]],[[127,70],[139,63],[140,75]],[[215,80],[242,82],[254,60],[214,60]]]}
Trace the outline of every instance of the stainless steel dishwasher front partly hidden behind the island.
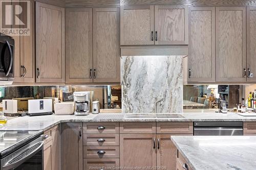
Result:
{"label": "stainless steel dishwasher front partly hidden behind the island", "polygon": [[241,136],[243,122],[194,122],[194,136]]}

